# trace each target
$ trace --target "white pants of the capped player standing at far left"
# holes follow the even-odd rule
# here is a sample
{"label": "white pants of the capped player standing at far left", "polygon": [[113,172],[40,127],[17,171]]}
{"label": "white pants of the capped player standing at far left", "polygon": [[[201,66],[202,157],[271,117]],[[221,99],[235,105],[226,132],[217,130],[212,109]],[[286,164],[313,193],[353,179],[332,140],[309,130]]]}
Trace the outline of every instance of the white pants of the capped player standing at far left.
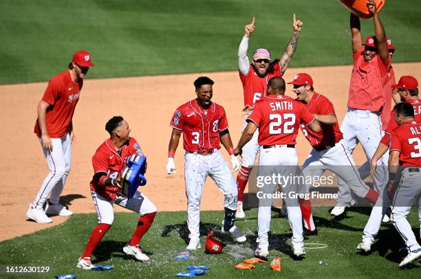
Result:
{"label": "white pants of the capped player standing at far left", "polygon": [[[41,188],[39,189],[36,198],[32,203],[32,208],[43,207],[48,194],[51,193],[50,202],[58,203],[63,187],[66,183],[66,178],[70,172],[70,165],[72,163],[72,142],[70,135],[67,133],[63,138],[51,138],[52,151],[47,151],[43,148],[45,160],[47,161],[48,172]],[[43,143],[39,139],[41,147]]]}

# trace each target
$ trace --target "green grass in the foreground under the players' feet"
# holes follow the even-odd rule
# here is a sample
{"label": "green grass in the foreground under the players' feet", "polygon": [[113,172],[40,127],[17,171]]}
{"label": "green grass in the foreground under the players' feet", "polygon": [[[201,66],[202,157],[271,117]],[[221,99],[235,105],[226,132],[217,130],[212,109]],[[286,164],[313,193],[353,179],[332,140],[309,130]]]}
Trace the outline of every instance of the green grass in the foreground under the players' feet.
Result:
{"label": "green grass in the foreground under the players' feet", "polygon": [[[228,242],[222,254],[204,254],[204,249],[193,253],[191,260],[175,260],[175,251],[185,249],[188,236],[185,212],[160,212],[151,229],[142,239],[141,245],[151,258],[143,264],[126,256],[122,247],[131,237],[138,220],[136,214],[116,214],[114,225],[102,239],[93,262],[97,265],[115,265],[113,271],[85,271],[76,267],[76,260],[83,252],[91,229],[96,226],[95,214],[77,214],[63,225],[38,231],[35,234],[0,242],[1,265],[49,265],[52,272],[45,278],[61,274],[74,274],[78,278],[170,278],[185,270],[188,265],[208,265],[210,270],[204,278],[419,278],[421,264],[414,262],[408,269],[400,270],[398,246],[400,237],[391,224],[382,225],[379,240],[369,255],[357,253],[363,227],[369,209],[353,208],[341,220],[334,219],[328,208],[314,209],[318,236],[309,236],[307,243],[327,245],[325,249],[307,249],[305,259],[291,258],[288,220],[272,212],[270,234],[270,257],[281,257],[282,269],[275,273],[268,263],[260,263],[256,269],[237,270],[234,266],[252,257],[257,235],[257,210],[246,211],[246,220],[237,221],[237,226],[247,235],[245,244],[233,244],[232,238],[219,233],[217,237]],[[203,211],[200,227],[202,246],[208,231],[218,230],[223,218],[222,211]],[[418,213],[414,209],[409,220],[417,227]],[[3,277],[2,277],[3,278]],[[10,276],[10,278],[17,278]],[[21,276],[20,278],[27,278]],[[28,276],[30,278],[30,276]],[[36,276],[36,278],[42,278]]]}

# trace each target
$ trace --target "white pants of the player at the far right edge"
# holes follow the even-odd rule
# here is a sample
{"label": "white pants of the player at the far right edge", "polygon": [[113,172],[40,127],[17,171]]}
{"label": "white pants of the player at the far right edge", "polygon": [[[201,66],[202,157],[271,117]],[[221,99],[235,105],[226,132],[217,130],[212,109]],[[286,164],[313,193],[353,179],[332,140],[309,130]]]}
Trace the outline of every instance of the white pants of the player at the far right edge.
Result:
{"label": "white pants of the player at the far right edge", "polygon": [[406,168],[402,171],[400,184],[393,198],[391,221],[411,251],[421,248],[407,220],[413,205],[418,205],[418,218],[421,224],[421,172],[409,172],[409,168]]}

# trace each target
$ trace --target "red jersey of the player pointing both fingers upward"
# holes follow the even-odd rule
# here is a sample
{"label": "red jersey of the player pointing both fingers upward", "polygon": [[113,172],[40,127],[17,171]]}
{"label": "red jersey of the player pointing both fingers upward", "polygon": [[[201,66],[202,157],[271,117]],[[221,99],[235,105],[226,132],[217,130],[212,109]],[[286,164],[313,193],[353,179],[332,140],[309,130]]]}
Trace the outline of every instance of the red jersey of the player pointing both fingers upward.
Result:
{"label": "red jersey of the player pointing both fingers upward", "polygon": [[244,105],[254,105],[257,100],[260,100],[262,96],[266,96],[268,90],[268,81],[274,76],[282,76],[281,64],[275,63],[273,65],[273,72],[266,74],[266,76],[260,77],[252,65],[248,70],[248,74],[245,76],[239,72],[241,83],[243,84],[244,91]]}

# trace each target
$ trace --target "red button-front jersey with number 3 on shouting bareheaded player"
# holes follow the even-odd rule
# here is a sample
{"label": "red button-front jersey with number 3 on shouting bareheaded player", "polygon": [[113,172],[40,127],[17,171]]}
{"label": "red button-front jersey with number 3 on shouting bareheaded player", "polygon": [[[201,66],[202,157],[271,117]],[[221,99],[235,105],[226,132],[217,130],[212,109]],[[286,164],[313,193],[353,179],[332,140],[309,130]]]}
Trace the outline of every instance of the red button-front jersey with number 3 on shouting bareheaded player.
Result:
{"label": "red button-front jersey with number 3 on shouting bareheaded player", "polygon": [[191,100],[177,107],[170,127],[183,131],[183,146],[186,151],[204,152],[219,149],[219,131],[228,129],[224,107],[210,103],[208,110]]}

